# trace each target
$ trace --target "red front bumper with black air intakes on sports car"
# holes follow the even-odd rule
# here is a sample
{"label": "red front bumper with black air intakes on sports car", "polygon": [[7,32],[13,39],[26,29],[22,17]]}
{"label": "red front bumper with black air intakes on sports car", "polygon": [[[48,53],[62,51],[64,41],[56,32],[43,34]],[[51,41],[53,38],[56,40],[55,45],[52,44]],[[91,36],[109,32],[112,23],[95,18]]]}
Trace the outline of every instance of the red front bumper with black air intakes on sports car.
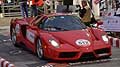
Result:
{"label": "red front bumper with black air intakes on sports car", "polygon": [[107,46],[105,48],[99,48],[94,50],[49,50],[49,58],[53,60],[78,60],[81,58],[88,59],[88,58],[100,58],[100,57],[108,57],[111,56],[111,47]]}

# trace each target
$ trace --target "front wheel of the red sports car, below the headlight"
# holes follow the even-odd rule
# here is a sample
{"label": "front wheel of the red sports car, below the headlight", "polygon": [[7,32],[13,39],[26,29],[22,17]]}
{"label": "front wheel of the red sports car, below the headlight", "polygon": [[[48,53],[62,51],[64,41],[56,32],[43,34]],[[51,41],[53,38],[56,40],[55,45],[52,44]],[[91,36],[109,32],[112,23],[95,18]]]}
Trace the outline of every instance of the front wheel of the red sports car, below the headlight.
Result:
{"label": "front wheel of the red sports car, below the headlight", "polygon": [[44,52],[43,52],[42,43],[40,39],[38,39],[36,43],[36,53],[38,58],[44,59]]}

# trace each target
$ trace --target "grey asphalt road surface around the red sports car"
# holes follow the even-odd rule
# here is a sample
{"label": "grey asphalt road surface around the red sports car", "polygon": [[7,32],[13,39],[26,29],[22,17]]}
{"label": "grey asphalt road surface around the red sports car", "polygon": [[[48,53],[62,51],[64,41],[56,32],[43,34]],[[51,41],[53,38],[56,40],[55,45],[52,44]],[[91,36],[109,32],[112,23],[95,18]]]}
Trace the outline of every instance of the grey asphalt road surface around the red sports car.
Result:
{"label": "grey asphalt road surface around the red sports car", "polygon": [[[15,64],[16,67],[41,67],[55,61],[40,60],[34,54],[12,45],[9,36],[9,27],[0,29],[0,57]],[[76,64],[80,63],[80,64]],[[112,47],[111,59],[97,62],[72,62],[68,67],[120,67],[120,48]],[[69,64],[69,63],[68,63]],[[55,67],[66,67],[64,63],[56,63]]]}

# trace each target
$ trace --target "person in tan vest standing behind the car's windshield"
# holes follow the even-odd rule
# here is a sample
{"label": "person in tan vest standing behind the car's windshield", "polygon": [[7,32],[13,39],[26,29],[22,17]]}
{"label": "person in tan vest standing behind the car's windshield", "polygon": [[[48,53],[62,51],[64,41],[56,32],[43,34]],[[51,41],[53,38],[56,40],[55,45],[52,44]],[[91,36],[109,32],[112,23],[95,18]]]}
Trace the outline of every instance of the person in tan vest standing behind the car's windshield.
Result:
{"label": "person in tan vest standing behind the car's windshield", "polygon": [[90,27],[91,22],[90,7],[87,5],[86,0],[83,0],[81,3],[83,8],[80,10],[79,16],[81,17],[81,20],[85,23],[85,25]]}

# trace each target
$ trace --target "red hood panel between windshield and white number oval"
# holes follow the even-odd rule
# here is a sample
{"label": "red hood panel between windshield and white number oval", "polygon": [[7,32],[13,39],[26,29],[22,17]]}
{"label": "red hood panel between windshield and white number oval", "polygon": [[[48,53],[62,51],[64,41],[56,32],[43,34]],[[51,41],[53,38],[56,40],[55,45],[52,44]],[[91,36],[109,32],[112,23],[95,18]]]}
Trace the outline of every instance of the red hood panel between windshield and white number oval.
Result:
{"label": "red hood panel between windshield and white number oval", "polygon": [[91,34],[86,30],[74,30],[74,31],[62,31],[62,32],[51,32],[55,38],[63,43],[71,44],[72,46],[78,47],[77,41],[89,41],[92,43]]}

